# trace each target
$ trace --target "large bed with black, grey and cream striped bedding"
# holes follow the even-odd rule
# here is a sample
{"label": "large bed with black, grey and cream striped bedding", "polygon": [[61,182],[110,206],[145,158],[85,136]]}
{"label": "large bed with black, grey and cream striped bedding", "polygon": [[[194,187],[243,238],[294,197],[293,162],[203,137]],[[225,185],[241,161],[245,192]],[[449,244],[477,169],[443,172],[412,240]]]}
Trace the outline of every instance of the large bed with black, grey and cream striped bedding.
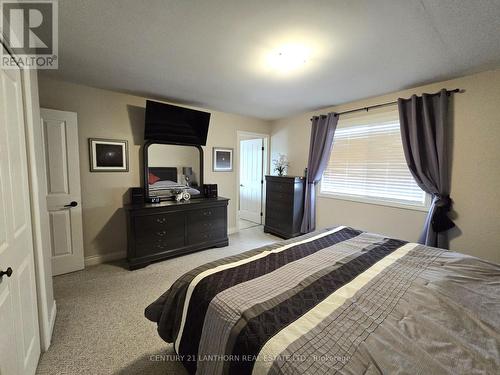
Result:
{"label": "large bed with black, grey and cream striped bedding", "polygon": [[197,267],[146,308],[197,374],[494,374],[500,266],[336,227]]}

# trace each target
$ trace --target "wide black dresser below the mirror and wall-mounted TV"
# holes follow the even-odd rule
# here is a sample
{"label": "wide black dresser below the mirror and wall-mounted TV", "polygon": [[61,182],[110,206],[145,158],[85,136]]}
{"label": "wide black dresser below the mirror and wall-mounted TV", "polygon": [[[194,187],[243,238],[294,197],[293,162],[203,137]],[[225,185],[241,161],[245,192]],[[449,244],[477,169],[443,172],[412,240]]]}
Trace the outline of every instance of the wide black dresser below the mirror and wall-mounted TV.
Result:
{"label": "wide black dresser below the mirror and wall-mounted TV", "polygon": [[129,268],[227,246],[228,202],[218,197],[126,205]]}

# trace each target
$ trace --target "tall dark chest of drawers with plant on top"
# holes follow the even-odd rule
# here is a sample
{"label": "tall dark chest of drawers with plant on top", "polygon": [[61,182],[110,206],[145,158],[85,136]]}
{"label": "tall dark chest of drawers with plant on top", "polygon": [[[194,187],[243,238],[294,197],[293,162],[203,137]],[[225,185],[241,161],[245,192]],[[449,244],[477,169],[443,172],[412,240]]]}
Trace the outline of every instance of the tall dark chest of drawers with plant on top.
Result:
{"label": "tall dark chest of drawers with plant on top", "polygon": [[281,238],[299,236],[304,213],[305,178],[266,176],[264,232]]}

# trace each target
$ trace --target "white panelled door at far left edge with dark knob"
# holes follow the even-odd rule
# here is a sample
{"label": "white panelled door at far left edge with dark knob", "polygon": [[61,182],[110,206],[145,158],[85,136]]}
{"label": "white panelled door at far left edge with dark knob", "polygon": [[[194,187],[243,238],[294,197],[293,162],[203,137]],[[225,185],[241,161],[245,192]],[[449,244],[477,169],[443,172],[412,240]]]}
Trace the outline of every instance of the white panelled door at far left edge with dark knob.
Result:
{"label": "white panelled door at far left edge with dark knob", "polygon": [[[24,126],[21,72],[16,69],[0,69],[2,375],[34,374],[40,356]],[[3,274],[7,271],[8,274]]]}

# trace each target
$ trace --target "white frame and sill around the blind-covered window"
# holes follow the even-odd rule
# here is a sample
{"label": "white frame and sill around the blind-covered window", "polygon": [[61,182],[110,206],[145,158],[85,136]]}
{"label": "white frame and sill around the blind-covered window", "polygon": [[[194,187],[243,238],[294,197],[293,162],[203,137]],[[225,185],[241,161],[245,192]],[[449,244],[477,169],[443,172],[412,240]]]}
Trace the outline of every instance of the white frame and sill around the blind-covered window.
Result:
{"label": "white frame and sill around the blind-covered window", "polygon": [[[387,111],[387,110],[386,110]],[[370,111],[371,112],[371,111]],[[367,119],[370,118],[370,115],[373,115],[374,117],[377,114],[383,113],[384,111],[374,111],[376,113],[370,113],[370,114],[365,114],[362,116],[352,116],[347,119],[348,122],[356,122],[357,119],[363,119],[362,121],[366,121]],[[389,110],[388,112],[392,112]],[[366,125],[366,123],[360,123],[358,124],[351,124],[349,126],[343,126],[342,128],[347,128],[347,127],[353,127],[353,126],[362,126]],[[335,136],[334,136],[334,147],[335,147]],[[333,149],[332,151],[333,152]],[[331,154],[330,154],[331,155]],[[326,169],[325,169],[326,170]],[[425,198],[424,202],[422,205],[420,204],[413,204],[410,202],[405,202],[405,201],[399,201],[397,199],[384,199],[382,197],[368,197],[368,196],[360,196],[357,194],[344,194],[344,193],[336,193],[336,192],[328,192],[328,191],[323,191],[323,176],[321,177],[320,182],[318,183],[317,186],[317,196],[320,198],[327,198],[327,199],[338,199],[342,201],[348,201],[348,202],[356,202],[356,203],[362,203],[362,204],[371,204],[371,205],[377,205],[377,206],[386,206],[386,207],[393,207],[393,208],[399,208],[399,209],[405,209],[405,210],[412,210],[412,211],[429,211],[429,208],[432,203],[432,195],[425,193]]]}

